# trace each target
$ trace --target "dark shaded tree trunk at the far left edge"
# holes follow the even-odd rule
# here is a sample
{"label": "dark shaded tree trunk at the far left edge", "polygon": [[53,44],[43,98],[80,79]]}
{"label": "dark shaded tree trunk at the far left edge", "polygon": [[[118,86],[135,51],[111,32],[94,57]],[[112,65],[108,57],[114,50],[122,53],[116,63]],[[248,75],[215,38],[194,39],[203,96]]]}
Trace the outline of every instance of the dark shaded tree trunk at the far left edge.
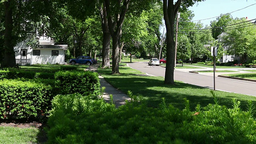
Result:
{"label": "dark shaded tree trunk at the far left edge", "polygon": [[4,2],[5,20],[4,20],[4,60],[1,68],[16,67],[14,43],[13,43],[13,20],[11,0]]}

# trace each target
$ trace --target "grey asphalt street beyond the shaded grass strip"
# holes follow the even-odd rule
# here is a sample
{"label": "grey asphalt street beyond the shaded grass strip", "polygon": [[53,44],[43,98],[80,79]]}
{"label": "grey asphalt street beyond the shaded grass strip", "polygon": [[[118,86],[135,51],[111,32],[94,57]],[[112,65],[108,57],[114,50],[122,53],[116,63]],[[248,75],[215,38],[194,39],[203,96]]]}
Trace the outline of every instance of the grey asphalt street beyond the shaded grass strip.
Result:
{"label": "grey asphalt street beyond the shaded grass strip", "polygon": [[[129,66],[141,72],[146,72],[147,74],[150,74],[150,75],[163,76],[163,77],[165,75],[164,67],[148,66],[147,62],[130,63]],[[204,69],[198,68],[193,70],[204,70]],[[211,88],[211,89],[214,88],[214,77],[212,73],[195,74],[195,73],[190,73],[189,71],[190,71],[189,69],[175,69],[174,80],[182,81],[182,82],[197,85],[197,86],[202,86],[205,88]],[[246,80],[235,80],[230,78],[221,78],[221,77],[218,77],[217,75],[215,76],[216,90],[223,90],[227,92],[234,92],[239,94],[256,96],[256,82],[250,82]]]}

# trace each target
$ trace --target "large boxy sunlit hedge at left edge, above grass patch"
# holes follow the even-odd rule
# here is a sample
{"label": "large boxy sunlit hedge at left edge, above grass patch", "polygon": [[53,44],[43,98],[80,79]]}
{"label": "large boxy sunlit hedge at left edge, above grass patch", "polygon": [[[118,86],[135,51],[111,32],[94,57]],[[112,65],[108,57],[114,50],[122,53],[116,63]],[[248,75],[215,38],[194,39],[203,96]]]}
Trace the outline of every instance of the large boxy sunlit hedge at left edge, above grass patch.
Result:
{"label": "large boxy sunlit hedge at left edge, above grass patch", "polygon": [[36,82],[0,81],[1,118],[37,118],[47,114],[52,87]]}

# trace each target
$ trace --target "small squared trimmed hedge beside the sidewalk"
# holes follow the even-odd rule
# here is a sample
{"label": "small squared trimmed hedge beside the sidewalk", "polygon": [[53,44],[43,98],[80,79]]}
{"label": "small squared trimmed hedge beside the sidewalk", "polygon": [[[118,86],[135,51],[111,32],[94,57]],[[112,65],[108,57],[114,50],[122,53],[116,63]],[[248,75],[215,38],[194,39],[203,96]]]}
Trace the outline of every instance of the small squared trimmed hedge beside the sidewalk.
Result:
{"label": "small squared trimmed hedge beside the sidewalk", "polygon": [[100,80],[98,73],[90,71],[59,71],[55,73],[55,87],[59,94],[79,93],[98,98]]}

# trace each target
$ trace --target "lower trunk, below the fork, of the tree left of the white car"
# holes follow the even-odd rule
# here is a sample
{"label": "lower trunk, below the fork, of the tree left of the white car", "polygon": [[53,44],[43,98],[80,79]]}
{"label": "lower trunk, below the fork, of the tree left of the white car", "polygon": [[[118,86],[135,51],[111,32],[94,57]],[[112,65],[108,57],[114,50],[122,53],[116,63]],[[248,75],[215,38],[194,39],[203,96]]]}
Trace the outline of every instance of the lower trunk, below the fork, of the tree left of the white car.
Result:
{"label": "lower trunk, below the fork, of the tree left of the white car", "polygon": [[119,58],[119,34],[112,36],[112,74],[119,74],[118,58]]}

